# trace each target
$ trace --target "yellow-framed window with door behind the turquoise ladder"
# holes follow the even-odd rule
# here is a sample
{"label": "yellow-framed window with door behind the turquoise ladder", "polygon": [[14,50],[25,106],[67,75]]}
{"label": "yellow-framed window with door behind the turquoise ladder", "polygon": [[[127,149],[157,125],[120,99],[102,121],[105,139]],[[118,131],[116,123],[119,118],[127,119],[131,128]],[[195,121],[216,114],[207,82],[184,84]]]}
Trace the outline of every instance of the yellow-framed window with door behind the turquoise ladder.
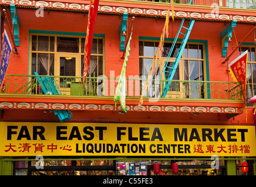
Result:
{"label": "yellow-framed window with door behind the turquoise ladder", "polygon": [[[158,42],[140,41],[139,46],[140,77],[143,76],[144,78],[147,78],[150,68],[153,64],[154,55],[158,49]],[[157,67],[157,75],[160,76],[158,79],[168,79],[169,73],[166,72],[165,77],[161,77],[161,71],[164,68],[164,63],[167,60],[171,46],[172,43],[164,43],[162,60],[159,63],[160,67]],[[168,61],[168,67],[172,67],[180,46],[181,44],[179,43],[175,45],[171,57]],[[203,86],[202,83],[192,82],[205,80],[205,55],[203,54],[203,47],[203,44],[186,44],[184,53],[182,54],[181,60],[179,61],[179,65],[174,74],[174,78],[172,79],[174,81],[171,82],[169,88],[170,92],[167,94],[169,97],[175,95],[176,98],[204,98],[204,95],[200,92],[200,89]],[[186,82],[185,85],[182,85],[182,82],[177,80],[185,80],[191,82]]]}

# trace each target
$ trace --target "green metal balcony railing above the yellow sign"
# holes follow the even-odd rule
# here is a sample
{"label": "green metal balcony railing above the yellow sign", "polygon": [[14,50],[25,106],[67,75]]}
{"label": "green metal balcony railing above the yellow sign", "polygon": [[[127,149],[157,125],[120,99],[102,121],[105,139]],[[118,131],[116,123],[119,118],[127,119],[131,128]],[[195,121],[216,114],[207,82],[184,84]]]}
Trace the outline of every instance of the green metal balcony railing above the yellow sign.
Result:
{"label": "green metal balcony railing above the yellow sign", "polygon": [[[82,86],[82,77],[53,77],[62,95],[56,96],[102,96],[113,97],[118,79],[106,77],[87,77],[85,86]],[[1,95],[44,95],[37,82],[38,75],[6,75],[6,83]],[[166,80],[154,79],[148,84],[145,98],[160,98]],[[129,78],[126,81],[127,98],[140,98],[146,79]],[[46,89],[50,92],[50,82]],[[181,81],[173,80],[169,86],[166,99],[224,99],[242,101],[241,84],[238,82],[213,81]]]}

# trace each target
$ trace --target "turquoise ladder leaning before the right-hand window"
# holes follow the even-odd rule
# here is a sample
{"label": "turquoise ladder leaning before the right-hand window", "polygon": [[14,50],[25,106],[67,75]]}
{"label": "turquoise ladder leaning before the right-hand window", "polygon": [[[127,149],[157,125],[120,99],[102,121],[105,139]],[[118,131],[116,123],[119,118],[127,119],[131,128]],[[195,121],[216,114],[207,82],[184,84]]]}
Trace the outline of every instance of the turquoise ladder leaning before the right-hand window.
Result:
{"label": "turquoise ladder leaning before the right-hand window", "polygon": [[[192,2],[192,0],[190,1],[189,4],[191,4],[191,2]],[[162,88],[164,88],[164,90],[161,94],[161,98],[165,98],[165,96],[167,95],[169,86],[171,85],[171,80],[172,80],[172,78],[174,78],[175,71],[177,70],[177,67],[179,65],[179,60],[181,60],[181,55],[185,49],[186,42],[188,41],[188,37],[189,37],[189,34],[191,33],[192,27],[195,23],[195,19],[190,20],[188,27],[183,26],[184,22],[185,22],[185,19],[183,18],[181,21],[181,25],[179,26],[178,32],[175,36],[174,43],[172,43],[171,50],[169,50],[167,60],[164,63],[164,68],[162,68],[161,78],[162,77],[166,78],[165,77],[166,74],[169,74],[169,75],[168,75],[167,81],[162,81]],[[181,29],[185,29],[186,33],[185,34],[182,33]],[[181,47],[179,48],[179,51],[177,53],[177,57],[175,58],[174,64],[172,65],[172,67],[170,67],[169,64],[171,64],[171,63],[169,63],[169,58],[172,55],[172,52],[174,50],[174,47],[175,47],[176,41],[179,37],[179,34],[183,35],[183,40],[181,43]],[[165,82],[165,85],[164,85],[164,82]]]}

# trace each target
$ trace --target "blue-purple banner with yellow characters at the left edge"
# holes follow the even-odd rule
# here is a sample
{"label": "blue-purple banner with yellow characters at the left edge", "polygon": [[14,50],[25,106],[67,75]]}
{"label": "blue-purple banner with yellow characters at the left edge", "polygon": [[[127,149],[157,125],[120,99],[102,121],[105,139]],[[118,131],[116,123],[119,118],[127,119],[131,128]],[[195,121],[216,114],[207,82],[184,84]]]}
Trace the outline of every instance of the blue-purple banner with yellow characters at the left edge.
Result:
{"label": "blue-purple banner with yellow characters at the left edge", "polygon": [[0,67],[0,89],[2,89],[2,85],[5,78],[5,73],[9,65],[10,55],[12,51],[12,46],[6,30],[2,34],[2,51],[1,51],[1,67]]}

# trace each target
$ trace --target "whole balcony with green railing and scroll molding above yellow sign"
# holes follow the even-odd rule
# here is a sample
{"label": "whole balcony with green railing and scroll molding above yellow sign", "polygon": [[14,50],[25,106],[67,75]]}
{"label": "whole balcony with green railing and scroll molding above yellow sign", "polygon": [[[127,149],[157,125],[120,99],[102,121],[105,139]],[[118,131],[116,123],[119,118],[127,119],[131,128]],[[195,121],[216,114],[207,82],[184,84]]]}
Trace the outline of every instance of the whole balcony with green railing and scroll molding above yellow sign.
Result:
{"label": "whole balcony with green railing and scroll molding above yellow sign", "polygon": [[[42,84],[39,77],[47,83]],[[55,81],[55,95],[51,79]],[[121,106],[113,101],[118,80],[87,77],[83,88],[82,77],[6,75],[0,108],[120,111]],[[221,113],[229,117],[243,113],[241,84],[237,82],[173,80],[167,96],[161,98],[165,82],[153,79],[145,92],[143,105],[139,106],[146,79],[127,79],[126,109],[133,112]]]}

